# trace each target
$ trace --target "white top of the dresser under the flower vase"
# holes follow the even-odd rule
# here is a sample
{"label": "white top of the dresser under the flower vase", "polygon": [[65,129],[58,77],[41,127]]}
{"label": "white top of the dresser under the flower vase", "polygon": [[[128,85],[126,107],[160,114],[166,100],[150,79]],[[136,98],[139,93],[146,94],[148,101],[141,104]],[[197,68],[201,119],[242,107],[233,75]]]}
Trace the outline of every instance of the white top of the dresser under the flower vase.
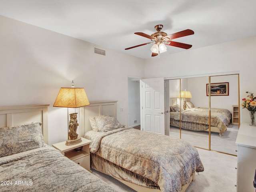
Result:
{"label": "white top of the dresser under the flower vase", "polygon": [[241,123],[236,137],[236,144],[256,148],[256,127],[249,126],[249,123]]}

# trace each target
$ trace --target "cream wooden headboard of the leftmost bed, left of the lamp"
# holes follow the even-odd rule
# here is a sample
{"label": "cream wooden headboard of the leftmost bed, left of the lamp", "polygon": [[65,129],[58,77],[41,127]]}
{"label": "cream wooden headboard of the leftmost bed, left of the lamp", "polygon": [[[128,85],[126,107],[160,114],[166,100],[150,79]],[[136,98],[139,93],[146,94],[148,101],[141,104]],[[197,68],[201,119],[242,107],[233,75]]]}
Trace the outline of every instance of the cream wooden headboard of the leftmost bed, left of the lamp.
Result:
{"label": "cream wooden headboard of the leftmost bed, left of the lamp", "polygon": [[48,106],[49,104],[0,107],[0,127],[42,122],[44,142],[48,144]]}

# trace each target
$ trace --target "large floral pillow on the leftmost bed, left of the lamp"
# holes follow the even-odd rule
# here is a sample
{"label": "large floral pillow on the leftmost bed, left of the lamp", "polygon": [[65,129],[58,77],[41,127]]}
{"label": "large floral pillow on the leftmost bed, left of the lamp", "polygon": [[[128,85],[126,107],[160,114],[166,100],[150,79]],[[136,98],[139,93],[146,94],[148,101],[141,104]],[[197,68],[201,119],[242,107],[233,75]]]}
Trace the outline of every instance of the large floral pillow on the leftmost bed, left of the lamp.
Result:
{"label": "large floral pillow on the leftmost bed, left of the lamp", "polygon": [[0,128],[0,157],[44,146],[42,123]]}

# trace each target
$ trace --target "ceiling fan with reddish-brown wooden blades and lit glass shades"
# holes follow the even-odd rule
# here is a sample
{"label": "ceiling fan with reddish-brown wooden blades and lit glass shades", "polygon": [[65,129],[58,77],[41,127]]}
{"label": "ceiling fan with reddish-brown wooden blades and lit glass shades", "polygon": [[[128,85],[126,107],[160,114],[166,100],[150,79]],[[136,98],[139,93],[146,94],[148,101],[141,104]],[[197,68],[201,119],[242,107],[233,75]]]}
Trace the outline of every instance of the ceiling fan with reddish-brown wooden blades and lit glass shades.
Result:
{"label": "ceiling fan with reddish-brown wooden blades and lit glass shades", "polygon": [[149,38],[151,40],[151,42],[132,46],[132,47],[126,48],[125,50],[154,43],[154,45],[150,48],[150,50],[152,51],[152,57],[154,57],[160,53],[167,51],[167,47],[165,45],[175,46],[175,47],[179,47],[179,48],[183,48],[183,49],[189,49],[192,47],[192,45],[175,42],[172,40],[176,39],[176,38],[192,35],[192,34],[194,34],[194,31],[192,31],[190,29],[186,29],[186,30],[174,33],[174,34],[167,35],[165,32],[161,31],[162,28],[163,28],[163,25],[156,25],[155,29],[157,32],[153,33],[152,35],[148,35],[148,34],[145,34],[142,32],[134,33],[136,35],[140,35],[142,37]]}

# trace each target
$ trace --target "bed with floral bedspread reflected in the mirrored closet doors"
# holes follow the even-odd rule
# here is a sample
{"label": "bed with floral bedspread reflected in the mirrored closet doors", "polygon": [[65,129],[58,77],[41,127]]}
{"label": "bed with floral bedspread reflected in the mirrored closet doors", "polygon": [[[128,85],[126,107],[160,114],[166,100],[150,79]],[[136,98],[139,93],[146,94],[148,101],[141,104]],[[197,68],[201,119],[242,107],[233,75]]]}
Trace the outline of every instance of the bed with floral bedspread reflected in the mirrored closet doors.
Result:
{"label": "bed with floral bedspread reflected in the mirrored closet doors", "polygon": [[[209,131],[209,108],[194,107],[192,102],[186,102],[186,110],[180,111],[180,106],[170,106],[170,126],[193,131]],[[227,130],[231,120],[231,112],[227,109],[211,108],[211,132],[218,132],[220,136]]]}

